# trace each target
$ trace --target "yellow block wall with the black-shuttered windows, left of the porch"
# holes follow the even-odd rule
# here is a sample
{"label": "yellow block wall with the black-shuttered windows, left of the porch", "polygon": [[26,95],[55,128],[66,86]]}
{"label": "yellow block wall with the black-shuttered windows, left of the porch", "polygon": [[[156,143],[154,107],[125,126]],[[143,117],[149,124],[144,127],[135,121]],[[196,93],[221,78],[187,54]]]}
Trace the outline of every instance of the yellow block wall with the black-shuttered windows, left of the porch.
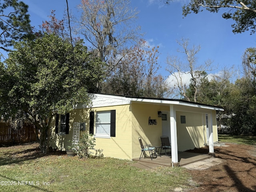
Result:
{"label": "yellow block wall with the black-shuttered windows, left of the porch", "polygon": [[[59,150],[66,150],[70,145],[68,140],[72,140],[74,122],[86,122],[86,131],[89,132],[90,118],[89,112],[94,111],[94,134],[96,133],[96,112],[116,110],[116,137],[97,138],[96,149],[103,149],[104,156],[132,159],[132,130],[131,130],[131,112],[130,105],[99,107],[91,109],[76,109],[70,112],[70,131],[65,136],[55,134],[55,119],[52,121],[52,138],[51,146]],[[83,131],[80,131],[80,136]]]}

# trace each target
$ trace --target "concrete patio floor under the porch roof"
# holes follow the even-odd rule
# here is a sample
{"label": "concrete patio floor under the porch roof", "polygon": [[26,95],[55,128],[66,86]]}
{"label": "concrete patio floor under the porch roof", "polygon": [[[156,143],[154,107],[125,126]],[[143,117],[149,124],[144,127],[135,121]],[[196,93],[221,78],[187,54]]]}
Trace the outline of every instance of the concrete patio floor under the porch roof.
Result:
{"label": "concrete patio floor under the porch roof", "polygon": [[[178,162],[180,166],[184,166],[187,164],[191,164],[194,162],[202,161],[208,158],[212,158],[212,156],[208,154],[197,154],[192,152],[178,152]],[[154,156],[153,160],[151,160],[150,156],[143,157],[141,159],[134,158],[133,161],[145,163],[145,164],[156,164],[159,166],[172,166],[172,157],[171,155],[161,155],[161,156]]]}

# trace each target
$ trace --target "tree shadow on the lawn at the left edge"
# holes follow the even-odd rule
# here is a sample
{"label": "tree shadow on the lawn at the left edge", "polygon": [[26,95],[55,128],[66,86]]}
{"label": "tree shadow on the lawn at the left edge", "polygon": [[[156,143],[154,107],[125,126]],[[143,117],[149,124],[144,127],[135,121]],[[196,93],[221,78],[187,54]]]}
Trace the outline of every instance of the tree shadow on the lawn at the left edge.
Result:
{"label": "tree shadow on the lawn at the left edge", "polygon": [[[18,145],[18,147],[22,148],[22,145]],[[25,147],[25,146],[24,146]],[[34,160],[37,158],[41,158],[44,156],[49,156],[49,155],[64,155],[66,154],[65,151],[51,151],[48,154],[43,154],[41,152],[41,150],[38,147],[34,147],[33,148],[27,148],[27,149],[22,149],[22,150],[18,150],[18,149],[12,149],[6,152],[4,151],[5,147],[2,147],[1,150],[2,155],[0,157],[0,166],[2,165],[10,165],[10,164],[19,164],[21,162],[25,162],[28,160]],[[8,148],[8,147],[7,147]]]}

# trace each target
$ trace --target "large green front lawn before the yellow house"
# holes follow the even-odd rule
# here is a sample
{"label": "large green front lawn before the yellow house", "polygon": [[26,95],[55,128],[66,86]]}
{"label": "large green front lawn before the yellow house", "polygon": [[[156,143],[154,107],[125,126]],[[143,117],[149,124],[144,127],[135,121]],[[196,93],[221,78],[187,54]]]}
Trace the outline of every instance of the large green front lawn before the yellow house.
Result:
{"label": "large green front lawn before the yellow house", "polygon": [[191,188],[190,175],[184,168],[160,166],[145,170],[130,166],[132,163],[114,158],[79,159],[66,154],[43,156],[31,145],[1,147],[0,181],[14,185],[0,185],[0,191],[165,192],[176,187]]}

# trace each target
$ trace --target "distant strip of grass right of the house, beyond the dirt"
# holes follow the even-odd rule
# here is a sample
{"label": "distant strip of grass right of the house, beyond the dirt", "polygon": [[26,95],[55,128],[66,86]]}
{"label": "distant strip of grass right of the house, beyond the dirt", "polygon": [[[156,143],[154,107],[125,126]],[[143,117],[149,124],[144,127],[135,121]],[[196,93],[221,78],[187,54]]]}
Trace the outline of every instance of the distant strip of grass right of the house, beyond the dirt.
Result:
{"label": "distant strip of grass right of the house, beyond the dirt", "polygon": [[256,145],[256,136],[229,136],[229,135],[218,135],[219,142]]}

